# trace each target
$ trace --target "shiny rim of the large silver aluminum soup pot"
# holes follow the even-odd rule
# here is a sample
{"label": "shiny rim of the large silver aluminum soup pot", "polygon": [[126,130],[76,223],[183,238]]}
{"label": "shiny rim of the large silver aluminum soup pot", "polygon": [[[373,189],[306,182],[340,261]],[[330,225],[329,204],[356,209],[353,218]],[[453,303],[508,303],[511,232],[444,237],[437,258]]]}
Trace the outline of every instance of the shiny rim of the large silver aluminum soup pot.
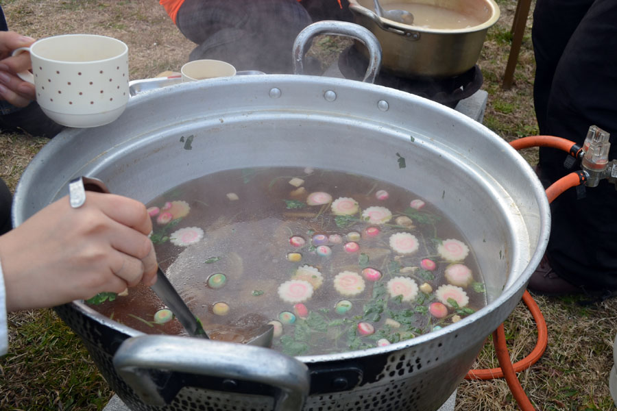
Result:
{"label": "shiny rim of the large silver aluminum soup pot", "polygon": [[[334,88],[334,89],[337,89],[337,88],[353,89],[358,92],[367,92],[367,95],[373,95],[375,93],[378,93],[380,97],[389,96],[389,97],[397,97],[400,99],[405,99],[408,101],[422,101],[424,105],[439,108],[439,111],[443,112],[442,114],[444,114],[444,117],[455,116],[457,117],[458,121],[460,121],[461,123],[474,123],[474,127],[476,128],[478,127],[485,128],[482,125],[476,124],[472,119],[469,119],[463,114],[455,112],[455,110],[441,106],[438,103],[435,103],[433,101],[426,101],[426,99],[423,99],[422,97],[418,97],[415,95],[409,95],[408,93],[405,93],[399,90],[389,89],[383,86],[376,86],[374,84],[355,82],[355,81],[348,80],[348,79],[335,79],[331,77],[313,77],[313,76],[299,76],[299,75],[241,76],[241,77],[212,79],[211,81],[208,81],[207,83],[204,82],[201,84],[199,82],[188,83],[188,84],[187,83],[176,84],[173,86],[169,86],[168,88],[163,88],[163,89],[160,89],[154,92],[143,93],[142,95],[132,97],[132,99],[129,102],[129,109],[132,109],[132,108],[138,109],[140,108],[140,106],[147,106],[147,104],[153,99],[161,99],[161,98],[165,99],[173,95],[184,95],[186,92],[190,92],[191,90],[197,91],[197,90],[204,89],[204,88],[215,88],[215,87],[223,88],[223,87],[229,87],[229,86],[243,87],[243,86],[250,86],[250,85],[258,85],[260,87],[269,88],[274,84],[276,84],[276,86],[281,87],[281,86],[288,86],[288,85],[296,84],[298,82],[302,83],[303,86],[313,84],[313,86],[319,86],[319,88],[324,88],[324,90],[328,89],[325,87]],[[114,126],[110,125],[109,127],[114,127]],[[487,130],[487,132],[489,131]],[[65,144],[64,140],[71,140],[71,138],[75,138],[75,136],[79,133],[80,133],[80,130],[77,130],[77,129],[73,129],[73,130],[65,132],[63,138],[54,140],[50,143],[50,145],[47,145],[47,147],[44,147],[44,149],[40,153],[38,153],[38,159],[42,158],[46,153],[51,151],[52,147],[54,146],[56,146],[56,148],[60,147],[60,145]],[[494,134],[494,133],[489,132],[489,134]],[[496,138],[493,141],[493,143],[497,145],[498,148],[501,151],[503,151],[503,153],[508,153],[508,152],[516,153],[516,151],[511,147],[511,145],[509,145],[503,139]],[[522,158],[516,158],[515,161],[520,163],[521,166],[524,163],[524,159]],[[39,162],[39,161],[32,162],[32,164],[38,164],[38,163],[43,164],[43,162]],[[428,340],[437,341],[437,340],[441,340],[444,338],[448,338],[450,336],[456,336],[461,329],[463,329],[470,323],[479,321],[480,317],[485,318],[497,312],[498,311],[497,309],[500,308],[500,306],[503,306],[509,299],[516,297],[516,295],[518,294],[522,295],[522,292],[524,291],[524,288],[527,284],[527,281],[529,280],[531,273],[533,273],[537,264],[540,263],[543,250],[546,247],[546,242],[548,242],[548,234],[550,232],[550,212],[548,211],[549,210],[548,200],[546,199],[546,195],[544,193],[542,185],[540,184],[540,181],[537,180],[537,176],[535,176],[535,173],[533,173],[533,169],[531,169],[531,167],[529,166],[524,166],[522,167],[521,171],[524,175],[527,175],[529,181],[536,182],[536,184],[533,184],[533,186],[529,187],[529,190],[531,190],[534,193],[533,195],[535,199],[537,199],[538,201],[538,207],[539,207],[538,211],[540,212],[540,217],[541,217],[540,222],[539,222],[540,223],[539,235],[537,238],[537,242],[534,245],[535,251],[533,252],[533,255],[531,256],[525,269],[522,271],[522,273],[520,273],[520,275],[518,275],[518,277],[516,277],[516,279],[513,280],[513,282],[509,282],[505,286],[503,292],[501,292],[500,295],[498,295],[498,297],[494,299],[494,301],[488,303],[487,306],[485,306],[478,312],[465,317],[464,319],[462,319],[461,321],[457,323],[448,325],[448,327],[444,327],[443,329],[433,331],[428,334],[418,336],[416,338],[412,338],[410,340],[401,341],[400,343],[394,343],[394,344],[391,344],[385,347],[373,347],[370,349],[347,351],[347,352],[335,353],[335,354],[321,354],[321,355],[315,355],[315,356],[298,356],[295,358],[304,363],[317,363],[317,362],[330,362],[330,361],[336,361],[336,360],[352,360],[352,359],[358,359],[358,358],[365,358],[368,356],[374,356],[377,354],[396,353],[397,351],[402,351],[403,349],[407,349],[407,348],[414,347],[414,346],[420,346],[426,343]],[[23,203],[24,199],[21,198],[23,197],[23,193],[21,193],[21,191],[23,190],[23,185],[27,183],[25,180],[32,178],[30,176],[32,173],[34,173],[34,171],[31,167],[30,169],[27,169],[27,171],[25,172],[26,178],[21,179],[20,184],[18,186],[18,190],[16,190],[16,194],[17,194],[16,203]],[[13,211],[14,211],[13,212],[14,223],[16,223],[16,225],[19,225],[19,223],[23,222],[23,221],[20,221],[20,217],[23,217],[22,215],[23,210],[21,213],[20,212],[16,213],[16,211],[19,211],[19,208],[16,208],[16,204],[15,204]],[[538,252],[537,249],[541,249],[542,252]],[[73,301],[73,303],[69,303],[69,306],[71,306],[73,309],[77,311],[83,312],[88,317],[90,317],[90,319],[93,319],[97,321],[98,323],[101,323],[102,325],[111,327],[112,329],[116,329],[119,332],[123,332],[124,334],[127,334],[128,336],[144,335],[144,333],[138,332],[136,329],[132,329],[131,327],[127,327],[125,325],[117,323],[116,321],[110,320],[108,317],[103,316],[102,314],[99,314],[92,308],[89,308],[88,306],[86,306],[86,304],[82,300]]]}

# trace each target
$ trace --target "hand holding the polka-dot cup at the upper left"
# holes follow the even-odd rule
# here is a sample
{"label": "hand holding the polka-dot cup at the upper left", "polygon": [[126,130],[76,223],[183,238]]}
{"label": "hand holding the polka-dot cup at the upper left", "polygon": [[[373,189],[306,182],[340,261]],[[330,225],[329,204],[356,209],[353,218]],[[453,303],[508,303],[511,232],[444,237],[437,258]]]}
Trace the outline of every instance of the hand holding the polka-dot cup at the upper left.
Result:
{"label": "hand holding the polka-dot cup at the upper left", "polygon": [[17,107],[25,107],[36,99],[34,85],[24,82],[16,73],[30,69],[29,53],[11,57],[19,47],[32,45],[34,38],[21,36],[16,32],[0,32],[0,99]]}

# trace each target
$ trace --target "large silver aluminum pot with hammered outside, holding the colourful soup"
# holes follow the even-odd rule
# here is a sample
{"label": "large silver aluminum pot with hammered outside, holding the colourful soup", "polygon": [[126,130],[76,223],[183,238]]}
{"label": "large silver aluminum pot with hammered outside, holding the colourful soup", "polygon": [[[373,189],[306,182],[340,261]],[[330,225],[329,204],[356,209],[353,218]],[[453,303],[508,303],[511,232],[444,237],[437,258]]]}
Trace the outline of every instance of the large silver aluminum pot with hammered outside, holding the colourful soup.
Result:
{"label": "large silver aluminum pot with hammered outside, holding the colourful soup", "polygon": [[520,301],[544,253],[546,195],[503,139],[406,92],[301,75],[209,79],[138,94],[114,123],[68,129],[43,147],[16,188],[13,218],[23,223],[81,175],[147,202],[208,173],[298,164],[383,179],[433,203],[468,236],[488,305],[387,347],[296,358],[146,336],[83,301],[58,307],[132,410],[436,410]]}

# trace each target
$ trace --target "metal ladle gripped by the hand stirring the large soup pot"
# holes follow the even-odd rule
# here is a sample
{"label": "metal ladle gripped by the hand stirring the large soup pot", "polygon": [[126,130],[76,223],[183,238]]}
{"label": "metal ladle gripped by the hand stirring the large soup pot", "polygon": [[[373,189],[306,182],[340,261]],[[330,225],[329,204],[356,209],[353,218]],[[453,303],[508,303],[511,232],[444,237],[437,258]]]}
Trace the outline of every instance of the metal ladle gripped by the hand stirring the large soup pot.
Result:
{"label": "metal ladle gripped by the hand stirring the large soup pot", "polygon": [[[95,192],[109,193],[104,182],[92,177],[77,177],[69,182],[69,192],[71,192],[71,206],[73,201],[81,201],[77,204],[80,206],[86,199],[86,190]],[[160,266],[156,271],[156,282],[150,286],[155,294],[162,300],[163,303],[173,312],[182,327],[186,329],[191,337],[208,338],[208,334],[204,331],[202,322],[191,312],[189,306],[186,306],[180,294],[173,284],[169,282],[167,275],[162,271]],[[254,335],[247,341],[247,345],[258,345],[260,347],[270,347],[272,338],[274,337],[274,327],[271,324],[262,325],[254,331]]]}

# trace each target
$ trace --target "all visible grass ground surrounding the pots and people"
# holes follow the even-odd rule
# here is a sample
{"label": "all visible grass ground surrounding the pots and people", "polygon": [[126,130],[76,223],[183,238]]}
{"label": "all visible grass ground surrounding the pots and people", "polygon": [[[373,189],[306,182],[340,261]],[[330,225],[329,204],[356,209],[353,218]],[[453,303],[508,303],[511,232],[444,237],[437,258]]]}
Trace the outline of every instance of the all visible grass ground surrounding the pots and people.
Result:
{"label": "all visible grass ground surrounding the pots and people", "polygon": [[[533,51],[529,27],[524,37],[515,82],[501,82],[509,53],[509,32],[516,0],[498,0],[502,17],[487,35],[479,66],[489,93],[484,123],[513,140],[537,133],[533,113]],[[119,38],[130,47],[130,77],[154,77],[177,71],[193,45],[185,40],[156,0],[3,0],[12,29],[42,38],[55,34],[92,33]],[[317,40],[312,53],[330,62],[340,43]],[[47,140],[0,133],[0,177],[11,188],[32,156]],[[531,163],[537,151],[523,153]],[[591,306],[579,300],[535,296],[548,323],[548,348],[531,369],[518,377],[538,410],[610,410],[608,390],[612,341],[617,332],[617,299]],[[0,358],[1,410],[101,410],[113,395],[93,366],[79,338],[51,310],[10,314],[10,353]],[[535,344],[535,325],[522,303],[505,323],[513,361]],[[497,366],[487,345],[476,368]],[[457,411],[516,410],[503,380],[465,381],[457,393]]]}

